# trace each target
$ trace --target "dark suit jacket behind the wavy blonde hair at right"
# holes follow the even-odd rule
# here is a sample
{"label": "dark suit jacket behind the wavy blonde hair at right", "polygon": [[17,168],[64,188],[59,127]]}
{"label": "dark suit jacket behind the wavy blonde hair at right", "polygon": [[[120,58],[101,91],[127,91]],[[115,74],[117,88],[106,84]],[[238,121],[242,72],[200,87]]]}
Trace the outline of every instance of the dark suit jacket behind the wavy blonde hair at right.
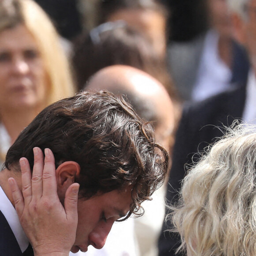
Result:
{"label": "dark suit jacket behind the wavy blonde hair at right", "polygon": [[[193,161],[197,161],[199,156],[194,154],[203,151],[209,143],[217,140],[216,137],[223,135],[223,125],[230,126],[234,119],[241,119],[245,92],[245,86],[238,87],[184,108],[173,149],[173,163],[166,194],[169,202],[177,202],[177,191],[180,190],[181,181],[186,174],[184,165],[191,164],[192,158]],[[163,224],[158,243],[159,256],[174,256],[179,245],[176,234],[164,232],[170,226],[170,222]]]}

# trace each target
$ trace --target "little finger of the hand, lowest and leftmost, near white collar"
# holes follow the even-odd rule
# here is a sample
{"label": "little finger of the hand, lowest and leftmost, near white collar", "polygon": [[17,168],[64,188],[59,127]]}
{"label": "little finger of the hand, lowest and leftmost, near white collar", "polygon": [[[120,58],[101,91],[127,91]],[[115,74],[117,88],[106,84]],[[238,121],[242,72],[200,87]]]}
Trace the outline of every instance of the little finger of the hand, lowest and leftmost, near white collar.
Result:
{"label": "little finger of the hand, lowest and leftmost, near white collar", "polygon": [[11,194],[14,201],[15,209],[20,218],[24,210],[24,199],[23,199],[22,192],[20,191],[18,184],[14,178],[9,178],[8,184],[11,188]]}

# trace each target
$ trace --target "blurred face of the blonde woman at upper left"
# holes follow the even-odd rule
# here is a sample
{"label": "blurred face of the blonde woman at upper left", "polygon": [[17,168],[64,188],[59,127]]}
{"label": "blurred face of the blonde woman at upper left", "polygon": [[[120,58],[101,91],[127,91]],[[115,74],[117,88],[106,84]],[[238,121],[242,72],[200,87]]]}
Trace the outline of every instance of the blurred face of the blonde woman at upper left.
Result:
{"label": "blurred face of the blonde woman at upper left", "polygon": [[29,30],[23,25],[3,30],[0,33],[0,111],[41,110],[46,97],[46,76],[38,45]]}

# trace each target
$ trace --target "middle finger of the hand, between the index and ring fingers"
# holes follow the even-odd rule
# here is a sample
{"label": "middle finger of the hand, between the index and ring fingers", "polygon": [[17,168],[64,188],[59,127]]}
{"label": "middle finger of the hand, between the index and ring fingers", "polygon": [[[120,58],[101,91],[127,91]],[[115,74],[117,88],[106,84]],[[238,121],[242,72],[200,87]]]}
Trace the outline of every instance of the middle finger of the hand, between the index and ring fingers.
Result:
{"label": "middle finger of the hand, between the index and ring fingers", "polygon": [[32,195],[34,199],[40,199],[43,194],[43,169],[44,155],[39,147],[33,148],[34,152],[34,168],[32,173]]}

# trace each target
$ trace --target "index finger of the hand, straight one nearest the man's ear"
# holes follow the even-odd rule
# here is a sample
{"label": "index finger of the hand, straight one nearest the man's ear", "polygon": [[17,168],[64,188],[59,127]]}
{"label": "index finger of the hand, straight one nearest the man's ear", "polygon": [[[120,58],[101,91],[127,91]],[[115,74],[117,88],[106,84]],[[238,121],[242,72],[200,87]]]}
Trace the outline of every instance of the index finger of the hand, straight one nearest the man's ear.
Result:
{"label": "index finger of the hand, straight one nearest the man's ear", "polygon": [[45,148],[45,166],[43,170],[43,196],[57,196],[56,169],[53,152]]}

